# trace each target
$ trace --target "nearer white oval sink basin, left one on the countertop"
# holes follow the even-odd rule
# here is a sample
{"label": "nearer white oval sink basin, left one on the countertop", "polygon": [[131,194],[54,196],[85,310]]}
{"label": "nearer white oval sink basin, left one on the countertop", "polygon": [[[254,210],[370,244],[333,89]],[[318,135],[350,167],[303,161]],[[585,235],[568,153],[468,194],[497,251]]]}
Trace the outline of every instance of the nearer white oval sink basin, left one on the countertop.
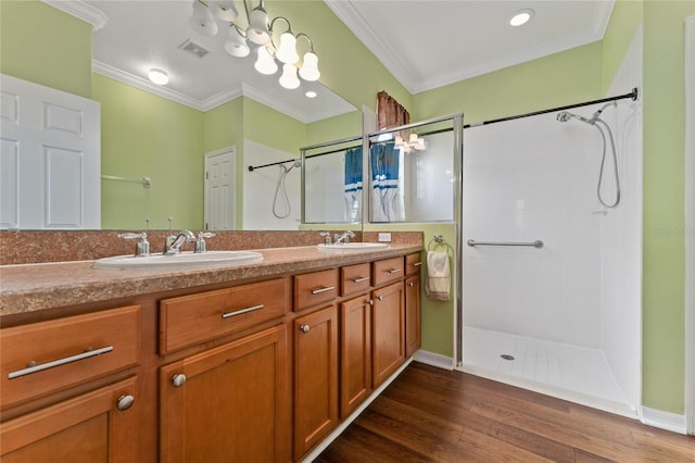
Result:
{"label": "nearer white oval sink basin, left one on the countertop", "polygon": [[148,256],[115,255],[94,262],[98,270],[187,270],[220,267],[261,262],[263,254],[254,251],[207,251],[203,253],[181,252],[175,255],[152,254]]}

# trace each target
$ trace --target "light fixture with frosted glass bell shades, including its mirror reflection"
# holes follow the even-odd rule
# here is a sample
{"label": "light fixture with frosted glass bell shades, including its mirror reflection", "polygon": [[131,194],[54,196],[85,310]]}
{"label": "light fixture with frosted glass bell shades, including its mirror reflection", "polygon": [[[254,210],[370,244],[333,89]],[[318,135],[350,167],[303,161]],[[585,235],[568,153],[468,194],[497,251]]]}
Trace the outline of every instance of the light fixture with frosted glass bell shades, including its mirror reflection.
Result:
{"label": "light fixture with frosted glass bell shades, including its mirror reflection", "polygon": [[[189,26],[204,37],[225,34],[225,50],[236,58],[244,58],[254,51],[254,68],[265,75],[274,75],[282,67],[279,83],[282,87],[293,89],[301,85],[300,77],[307,82],[318,80],[318,57],[314,53],[314,43],[304,33],[294,34],[289,20],[283,16],[269,18],[263,0],[249,11],[248,0],[242,0],[245,22],[239,22],[239,13],[233,0],[193,0],[193,11],[188,20]],[[274,42],[273,33],[276,22],[287,25],[279,45]],[[247,27],[243,27],[247,24]],[[308,42],[308,51],[300,59],[298,40]],[[298,76],[299,72],[299,76]]]}

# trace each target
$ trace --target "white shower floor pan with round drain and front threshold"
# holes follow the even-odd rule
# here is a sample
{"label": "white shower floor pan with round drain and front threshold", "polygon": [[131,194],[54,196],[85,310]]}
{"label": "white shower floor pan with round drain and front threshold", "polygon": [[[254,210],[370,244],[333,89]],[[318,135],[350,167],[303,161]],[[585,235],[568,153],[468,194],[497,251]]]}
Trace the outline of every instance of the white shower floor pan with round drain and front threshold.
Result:
{"label": "white shower floor pan with round drain and front threshold", "polygon": [[465,327],[459,370],[637,418],[599,349]]}

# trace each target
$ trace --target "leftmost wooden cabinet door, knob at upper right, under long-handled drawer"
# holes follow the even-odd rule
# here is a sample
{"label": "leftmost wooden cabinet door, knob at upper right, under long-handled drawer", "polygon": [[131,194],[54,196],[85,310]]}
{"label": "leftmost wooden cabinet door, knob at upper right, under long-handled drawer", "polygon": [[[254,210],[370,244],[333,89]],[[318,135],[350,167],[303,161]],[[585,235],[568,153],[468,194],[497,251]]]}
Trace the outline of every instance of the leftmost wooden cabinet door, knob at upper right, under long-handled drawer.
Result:
{"label": "leftmost wooden cabinet door, knob at upper right, under long-handled drawer", "polygon": [[2,463],[137,462],[135,377],[2,423]]}

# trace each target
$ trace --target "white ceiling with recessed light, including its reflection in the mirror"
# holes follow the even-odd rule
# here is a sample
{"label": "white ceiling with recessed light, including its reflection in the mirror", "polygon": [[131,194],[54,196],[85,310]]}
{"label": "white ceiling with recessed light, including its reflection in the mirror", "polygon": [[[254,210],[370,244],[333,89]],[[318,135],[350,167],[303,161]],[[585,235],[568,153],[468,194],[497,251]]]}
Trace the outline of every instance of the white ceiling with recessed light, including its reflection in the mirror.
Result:
{"label": "white ceiling with recessed light, including its reflection in the mirror", "polygon": [[[206,111],[244,95],[303,122],[354,110],[318,83],[283,89],[279,74],[253,70],[252,55],[227,54],[223,35],[222,40],[195,35],[188,27],[191,1],[45,1],[94,24],[96,72],[192,108]],[[614,5],[614,0],[325,1],[413,93],[601,40]],[[535,12],[527,25],[506,24],[527,8]],[[273,16],[270,8],[268,13]],[[210,53],[198,58],[180,50],[187,40]],[[169,74],[166,87],[147,79],[151,67]],[[318,98],[304,97],[309,87]]]}

